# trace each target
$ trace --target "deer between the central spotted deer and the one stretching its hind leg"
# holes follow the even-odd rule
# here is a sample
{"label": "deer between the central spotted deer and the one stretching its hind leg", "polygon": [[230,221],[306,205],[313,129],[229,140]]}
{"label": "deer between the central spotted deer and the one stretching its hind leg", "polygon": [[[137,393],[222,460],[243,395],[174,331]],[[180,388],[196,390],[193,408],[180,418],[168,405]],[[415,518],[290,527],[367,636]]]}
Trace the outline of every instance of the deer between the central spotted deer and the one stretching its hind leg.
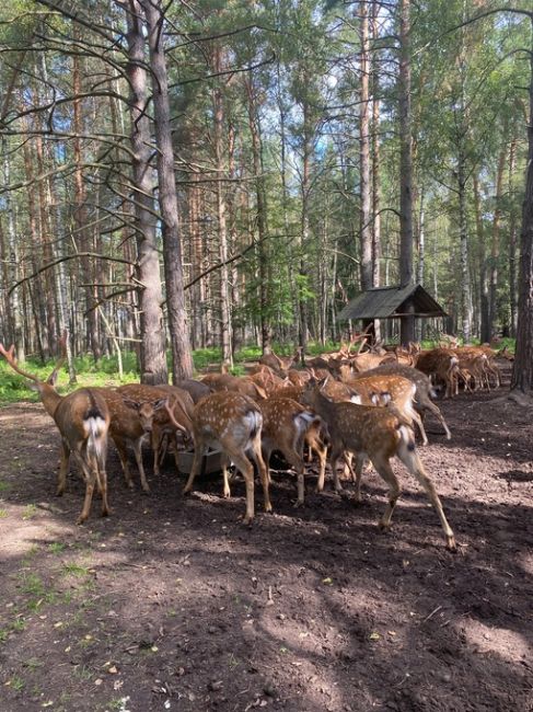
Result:
{"label": "deer between the central spotted deer and the one stretching its hind leg", "polygon": [[[303,444],[310,430],[316,435],[322,420],[309,409],[290,398],[273,397],[260,403],[263,413],[262,450],[269,474],[270,456],[279,450],[287,462],[294,468],[298,478],[296,507],[303,505],[305,497]],[[320,449],[320,448],[318,448]],[[326,449],[322,447],[321,474],[325,472]]]}

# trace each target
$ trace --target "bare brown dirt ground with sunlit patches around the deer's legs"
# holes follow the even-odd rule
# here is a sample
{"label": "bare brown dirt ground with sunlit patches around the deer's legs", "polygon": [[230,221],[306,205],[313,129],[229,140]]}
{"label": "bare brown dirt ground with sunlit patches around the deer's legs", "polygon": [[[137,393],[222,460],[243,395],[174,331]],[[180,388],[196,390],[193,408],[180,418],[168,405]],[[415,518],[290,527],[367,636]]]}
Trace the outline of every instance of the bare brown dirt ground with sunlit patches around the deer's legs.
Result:
{"label": "bare brown dirt ground with sunlit patches around the deer's legs", "polygon": [[440,405],[453,439],[428,421],[420,455],[456,554],[407,475],[387,535],[373,472],[360,506],[312,472],[303,509],[277,472],[248,529],[242,482],[184,498],[169,461],[129,492],[114,449],[112,516],[96,501],[77,527],[54,424],[0,410],[0,710],[533,711],[532,412],[501,391]]}

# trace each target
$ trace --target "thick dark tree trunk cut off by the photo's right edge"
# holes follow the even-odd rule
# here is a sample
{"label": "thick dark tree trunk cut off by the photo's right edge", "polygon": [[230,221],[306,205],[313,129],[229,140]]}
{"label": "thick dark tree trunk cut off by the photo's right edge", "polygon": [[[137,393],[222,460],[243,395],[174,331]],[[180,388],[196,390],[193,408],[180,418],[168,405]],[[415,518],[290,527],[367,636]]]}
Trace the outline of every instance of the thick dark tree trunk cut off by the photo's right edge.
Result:
{"label": "thick dark tree trunk cut off by the photo's right edge", "polygon": [[[533,13],[530,15],[533,38]],[[511,389],[525,392],[533,388],[533,41],[530,47],[530,117],[528,162],[520,234],[520,273],[517,348]]]}

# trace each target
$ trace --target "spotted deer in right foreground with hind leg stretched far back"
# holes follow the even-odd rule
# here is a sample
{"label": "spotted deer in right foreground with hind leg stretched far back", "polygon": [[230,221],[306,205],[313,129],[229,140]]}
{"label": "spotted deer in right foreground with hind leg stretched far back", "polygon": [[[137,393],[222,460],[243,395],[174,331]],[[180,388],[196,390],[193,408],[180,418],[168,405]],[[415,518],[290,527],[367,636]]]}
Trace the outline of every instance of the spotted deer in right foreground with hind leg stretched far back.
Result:
{"label": "spotted deer in right foreground with hind leg stretched far back", "polygon": [[332,451],[331,464],[335,490],[341,491],[337,474],[337,461],[345,450],[356,456],[356,497],[360,499],[361,472],[367,458],[389,485],[389,504],[380,528],[389,529],[401,494],[398,480],[390,460],[397,456],[407,470],[422,485],[429,501],[439,516],[448,549],[455,550],[455,538],[442,509],[439,495],[427,475],[415,447],[414,433],[409,421],[394,406],[373,407],[355,403],[334,403],[321,391],[321,382],[310,381],[302,400],[311,405],[325,421],[329,433]]}

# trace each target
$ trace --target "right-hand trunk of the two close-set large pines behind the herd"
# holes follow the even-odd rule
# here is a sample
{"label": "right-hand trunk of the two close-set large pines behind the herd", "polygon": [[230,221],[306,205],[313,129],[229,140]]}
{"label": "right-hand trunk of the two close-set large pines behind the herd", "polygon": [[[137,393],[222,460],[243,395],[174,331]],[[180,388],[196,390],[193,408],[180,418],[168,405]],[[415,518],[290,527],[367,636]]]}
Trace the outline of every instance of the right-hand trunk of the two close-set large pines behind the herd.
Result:
{"label": "right-hand trunk of the two close-set large pines behind the herd", "polygon": [[174,147],[169,104],[169,78],[163,47],[164,14],[161,0],[141,0],[147,19],[148,46],[152,69],[152,97],[158,146],[159,204],[161,207],[163,255],[166,282],[166,310],[172,345],[174,381],[193,376],[183,284]]}

